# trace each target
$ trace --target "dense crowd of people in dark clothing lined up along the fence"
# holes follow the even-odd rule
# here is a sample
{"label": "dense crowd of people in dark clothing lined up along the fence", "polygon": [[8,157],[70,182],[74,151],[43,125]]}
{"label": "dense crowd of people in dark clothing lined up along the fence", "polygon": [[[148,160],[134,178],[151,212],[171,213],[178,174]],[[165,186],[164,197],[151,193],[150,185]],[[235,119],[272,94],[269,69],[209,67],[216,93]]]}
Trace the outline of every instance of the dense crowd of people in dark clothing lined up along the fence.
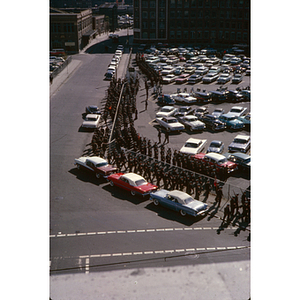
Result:
{"label": "dense crowd of people in dark clothing lined up along the fence", "polygon": [[[142,65],[143,59],[140,54],[136,55],[136,62],[139,66]],[[154,75],[147,73],[145,75],[147,77],[144,78],[144,83],[148,98],[148,78]],[[149,85],[155,85],[158,84],[156,80],[159,78],[154,76],[149,80]],[[228,176],[226,168],[217,168],[203,160],[171,149],[167,146],[168,136],[165,136],[162,142],[160,130],[158,141],[142,137],[137,132],[134,121],[138,118],[136,95],[139,88],[138,75],[123,80],[115,78],[111,80],[102,113],[103,126],[96,129],[92,137],[93,154],[105,157],[109,163],[116,165],[119,171],[140,174],[160,188],[179,189],[193,195],[197,200],[200,200],[201,195],[207,199],[209,193],[213,191],[216,194],[216,202],[220,205],[223,196],[222,185]],[[234,199],[234,203],[238,203],[237,195]],[[249,221],[250,200],[245,196],[241,197],[241,202],[243,209],[241,215],[244,220]],[[224,220],[226,218],[226,222],[229,222],[237,212],[238,204],[231,205],[230,200],[229,208],[226,206],[224,210]]]}

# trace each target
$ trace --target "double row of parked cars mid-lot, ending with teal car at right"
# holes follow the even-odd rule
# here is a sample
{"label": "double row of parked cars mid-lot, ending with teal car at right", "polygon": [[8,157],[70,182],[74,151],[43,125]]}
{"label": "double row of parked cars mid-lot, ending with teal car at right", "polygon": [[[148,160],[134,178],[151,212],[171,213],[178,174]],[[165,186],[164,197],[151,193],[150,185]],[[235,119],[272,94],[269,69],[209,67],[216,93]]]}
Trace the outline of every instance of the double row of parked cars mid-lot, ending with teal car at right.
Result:
{"label": "double row of parked cars mid-lot, ending with teal car at right", "polygon": [[251,113],[247,113],[247,108],[242,106],[233,106],[227,113],[218,107],[209,113],[205,106],[194,109],[191,106],[166,105],[156,113],[155,120],[169,132],[179,132],[185,129],[190,132],[205,129],[212,131],[249,130]]}

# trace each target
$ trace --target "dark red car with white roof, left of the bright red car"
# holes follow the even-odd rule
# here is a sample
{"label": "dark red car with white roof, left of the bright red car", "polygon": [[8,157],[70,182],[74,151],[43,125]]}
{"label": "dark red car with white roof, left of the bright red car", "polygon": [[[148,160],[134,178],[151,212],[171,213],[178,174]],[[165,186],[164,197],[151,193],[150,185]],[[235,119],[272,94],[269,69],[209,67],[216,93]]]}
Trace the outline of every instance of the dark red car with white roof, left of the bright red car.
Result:
{"label": "dark red car with white roof, left of the bright red car", "polygon": [[74,164],[77,169],[91,171],[97,178],[107,178],[110,174],[118,170],[116,167],[110,165],[107,160],[99,156],[82,156],[76,158]]}

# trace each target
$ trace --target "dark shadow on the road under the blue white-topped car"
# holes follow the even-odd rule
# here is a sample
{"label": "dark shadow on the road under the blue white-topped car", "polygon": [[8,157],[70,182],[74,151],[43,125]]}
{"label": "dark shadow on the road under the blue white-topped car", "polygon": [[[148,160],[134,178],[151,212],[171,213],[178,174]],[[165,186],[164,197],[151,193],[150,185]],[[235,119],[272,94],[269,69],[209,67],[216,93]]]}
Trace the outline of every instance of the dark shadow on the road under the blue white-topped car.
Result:
{"label": "dark shadow on the road under the blue white-topped car", "polygon": [[157,216],[164,218],[166,220],[175,221],[177,223],[192,226],[193,224],[203,220],[206,217],[206,214],[199,217],[193,217],[186,215],[185,217],[181,216],[178,212],[169,210],[161,205],[154,205],[153,202],[145,206],[146,209],[153,211]]}

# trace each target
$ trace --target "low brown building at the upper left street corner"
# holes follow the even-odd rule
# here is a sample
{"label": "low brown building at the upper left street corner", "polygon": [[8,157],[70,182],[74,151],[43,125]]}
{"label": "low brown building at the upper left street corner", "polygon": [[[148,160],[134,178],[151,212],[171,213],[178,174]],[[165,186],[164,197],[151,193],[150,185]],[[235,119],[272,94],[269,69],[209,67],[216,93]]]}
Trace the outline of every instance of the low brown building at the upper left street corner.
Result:
{"label": "low brown building at the upper left street corner", "polygon": [[50,50],[59,48],[67,54],[78,53],[96,34],[91,9],[50,8]]}

